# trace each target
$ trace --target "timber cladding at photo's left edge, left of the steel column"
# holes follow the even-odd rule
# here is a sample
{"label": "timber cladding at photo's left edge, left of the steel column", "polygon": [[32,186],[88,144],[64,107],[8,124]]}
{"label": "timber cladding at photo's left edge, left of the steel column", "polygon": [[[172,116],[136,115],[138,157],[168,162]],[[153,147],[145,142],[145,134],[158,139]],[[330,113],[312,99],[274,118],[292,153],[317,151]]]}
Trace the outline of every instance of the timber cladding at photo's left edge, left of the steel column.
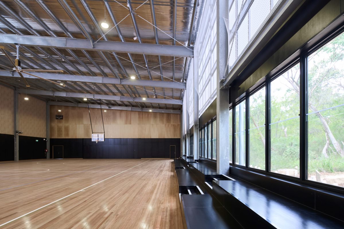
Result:
{"label": "timber cladding at photo's left edge, left of the steel column", "polygon": [[13,135],[13,90],[0,85],[0,134]]}

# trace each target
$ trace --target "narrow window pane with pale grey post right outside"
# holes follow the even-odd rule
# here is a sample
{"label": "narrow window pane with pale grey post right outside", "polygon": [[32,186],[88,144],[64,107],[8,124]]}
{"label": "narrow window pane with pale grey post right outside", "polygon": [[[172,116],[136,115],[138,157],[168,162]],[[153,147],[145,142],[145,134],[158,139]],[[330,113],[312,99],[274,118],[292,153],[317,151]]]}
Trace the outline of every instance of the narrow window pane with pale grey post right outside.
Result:
{"label": "narrow window pane with pale grey post right outside", "polygon": [[235,164],[246,165],[246,100],[235,107]]}

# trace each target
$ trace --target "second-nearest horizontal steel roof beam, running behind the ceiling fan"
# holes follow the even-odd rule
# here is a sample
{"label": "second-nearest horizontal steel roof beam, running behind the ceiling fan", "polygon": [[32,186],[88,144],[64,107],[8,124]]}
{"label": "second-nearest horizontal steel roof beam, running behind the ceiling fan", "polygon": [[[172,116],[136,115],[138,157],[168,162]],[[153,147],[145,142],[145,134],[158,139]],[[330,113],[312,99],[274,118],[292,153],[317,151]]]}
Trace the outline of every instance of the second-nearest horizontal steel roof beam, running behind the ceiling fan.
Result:
{"label": "second-nearest horizontal steel roof beam, running behind the ceiling fan", "polygon": [[[48,80],[75,81],[75,82],[88,82],[88,83],[109,83],[109,84],[121,84],[121,85],[186,89],[186,83],[180,83],[180,82],[118,79],[114,77],[79,76],[79,75],[67,75],[67,74],[55,74],[55,73],[43,73],[43,72],[33,72],[32,74],[42,77],[44,79],[48,79]],[[13,76],[12,76],[12,71],[8,71],[8,72],[3,71],[0,73],[0,76],[20,77],[18,72],[13,72]],[[30,76],[26,74],[24,74],[23,76],[25,78],[38,79],[34,76]]]}

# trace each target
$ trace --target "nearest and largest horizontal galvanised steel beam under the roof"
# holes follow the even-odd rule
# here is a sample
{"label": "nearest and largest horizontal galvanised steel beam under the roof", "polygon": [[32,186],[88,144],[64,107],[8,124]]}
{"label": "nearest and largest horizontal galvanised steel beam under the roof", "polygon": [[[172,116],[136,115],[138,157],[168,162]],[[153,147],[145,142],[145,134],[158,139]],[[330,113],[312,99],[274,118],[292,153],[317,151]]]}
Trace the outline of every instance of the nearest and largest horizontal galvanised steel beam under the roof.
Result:
{"label": "nearest and largest horizontal galvanised steel beam under the roof", "polygon": [[65,48],[92,51],[111,51],[117,53],[136,53],[146,55],[193,57],[193,47],[140,44],[132,42],[98,41],[93,44],[87,39],[64,37],[44,37],[30,35],[0,34],[0,44],[22,46]]}

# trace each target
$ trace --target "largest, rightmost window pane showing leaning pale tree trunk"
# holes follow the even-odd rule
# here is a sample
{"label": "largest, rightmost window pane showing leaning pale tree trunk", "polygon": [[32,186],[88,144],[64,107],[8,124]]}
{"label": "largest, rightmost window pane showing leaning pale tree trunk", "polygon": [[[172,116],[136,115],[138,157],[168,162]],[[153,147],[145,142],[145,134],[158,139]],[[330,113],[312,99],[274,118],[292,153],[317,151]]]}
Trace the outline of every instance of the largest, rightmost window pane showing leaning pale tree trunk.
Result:
{"label": "largest, rightmost window pane showing leaning pale tree trunk", "polygon": [[344,34],[308,57],[308,180],[344,187]]}

